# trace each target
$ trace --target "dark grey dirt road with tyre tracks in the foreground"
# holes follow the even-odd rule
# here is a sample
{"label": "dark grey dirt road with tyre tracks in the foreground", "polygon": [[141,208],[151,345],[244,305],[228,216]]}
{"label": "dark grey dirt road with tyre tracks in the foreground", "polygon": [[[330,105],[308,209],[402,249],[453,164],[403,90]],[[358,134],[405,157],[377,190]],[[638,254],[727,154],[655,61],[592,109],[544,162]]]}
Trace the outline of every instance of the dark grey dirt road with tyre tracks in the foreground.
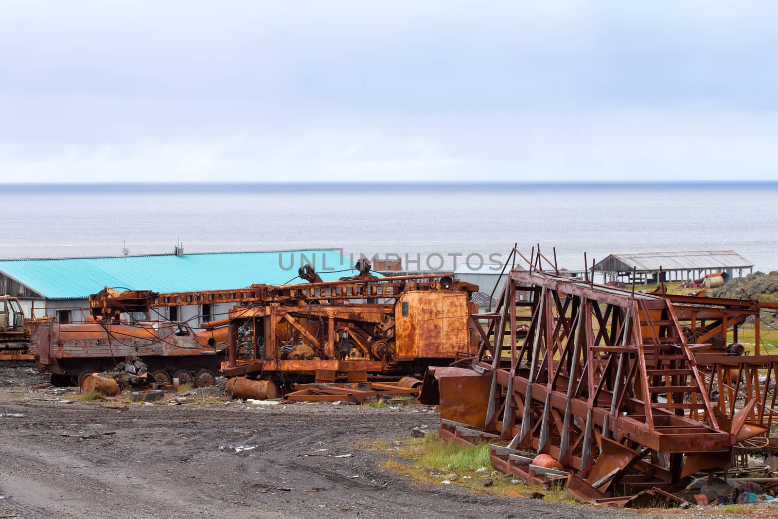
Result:
{"label": "dark grey dirt road with tyre tracks in the foreground", "polygon": [[[37,373],[0,368],[3,517],[626,515],[418,486],[382,471],[381,454],[359,450],[360,440],[436,426],[438,417],[426,408],[230,403],[107,409],[33,399],[28,387],[42,381]],[[352,456],[337,457],[342,454]]]}

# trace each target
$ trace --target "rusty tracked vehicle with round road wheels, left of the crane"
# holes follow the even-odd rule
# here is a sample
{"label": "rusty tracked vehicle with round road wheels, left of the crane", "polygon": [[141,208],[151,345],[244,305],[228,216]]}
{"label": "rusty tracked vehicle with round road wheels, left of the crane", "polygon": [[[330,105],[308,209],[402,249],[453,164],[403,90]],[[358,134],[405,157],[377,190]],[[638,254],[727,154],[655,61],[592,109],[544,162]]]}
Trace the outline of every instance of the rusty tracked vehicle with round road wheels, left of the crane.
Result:
{"label": "rusty tracked vehicle with round road wheels, left of the crane", "polygon": [[[103,290],[93,298],[113,297],[117,291]],[[147,291],[135,296],[148,297]],[[195,332],[185,323],[172,321],[128,321],[121,314],[139,310],[131,303],[122,311],[100,315],[83,323],[40,324],[33,333],[30,352],[38,369],[51,373],[55,385],[80,384],[83,377],[110,370],[126,356],[138,356],[159,382],[209,386],[216,381],[224,359],[225,345],[212,331]]]}

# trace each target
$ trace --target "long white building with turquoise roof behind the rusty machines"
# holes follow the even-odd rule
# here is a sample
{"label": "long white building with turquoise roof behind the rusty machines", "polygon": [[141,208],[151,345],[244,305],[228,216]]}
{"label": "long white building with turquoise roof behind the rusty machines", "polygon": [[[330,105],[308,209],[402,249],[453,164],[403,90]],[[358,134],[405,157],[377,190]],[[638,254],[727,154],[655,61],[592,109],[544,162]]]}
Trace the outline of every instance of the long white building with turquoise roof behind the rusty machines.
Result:
{"label": "long white building with turquoise roof behind the rusty machines", "polygon": [[[297,269],[305,263],[324,281],[350,275],[353,266],[348,257],[328,249],[209,254],[178,249],[148,256],[0,260],[0,295],[18,297],[27,316],[83,321],[89,314],[89,294],[106,286],[167,293],[282,285],[303,282]],[[232,303],[160,308],[158,317],[198,328],[202,322],[225,318],[230,307]]]}

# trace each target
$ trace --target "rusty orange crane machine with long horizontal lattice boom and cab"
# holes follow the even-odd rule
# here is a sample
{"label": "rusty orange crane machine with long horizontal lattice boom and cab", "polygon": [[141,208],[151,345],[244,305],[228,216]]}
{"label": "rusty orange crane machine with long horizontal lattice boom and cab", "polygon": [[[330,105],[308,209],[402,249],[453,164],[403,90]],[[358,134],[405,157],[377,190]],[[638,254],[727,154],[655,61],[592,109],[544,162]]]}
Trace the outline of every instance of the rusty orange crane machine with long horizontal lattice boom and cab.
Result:
{"label": "rusty orange crane machine with long horizontal lattice boom and cab", "polygon": [[103,290],[90,297],[100,325],[121,314],[202,303],[233,303],[230,317],[204,324],[212,342],[227,342],[226,377],[293,382],[362,382],[368,373],[402,376],[472,355],[471,293],[453,275],[359,275],[322,282],[189,293]]}

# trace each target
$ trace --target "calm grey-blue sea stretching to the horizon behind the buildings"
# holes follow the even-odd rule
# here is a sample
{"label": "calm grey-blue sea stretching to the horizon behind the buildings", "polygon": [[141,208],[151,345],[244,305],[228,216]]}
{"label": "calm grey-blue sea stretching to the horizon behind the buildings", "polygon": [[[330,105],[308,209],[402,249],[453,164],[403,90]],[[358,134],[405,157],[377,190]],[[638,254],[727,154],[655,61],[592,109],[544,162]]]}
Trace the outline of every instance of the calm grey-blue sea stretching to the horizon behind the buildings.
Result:
{"label": "calm grey-blue sea stretching to the horizon behind the buildings", "polygon": [[[0,185],[0,258],[277,251],[506,253],[560,267],[614,252],[734,250],[778,269],[778,184]],[[461,265],[463,256],[457,257]],[[435,256],[433,263],[439,259]],[[474,261],[475,263],[475,261]],[[413,266],[413,265],[411,265]],[[458,265],[457,265],[458,266]]]}

